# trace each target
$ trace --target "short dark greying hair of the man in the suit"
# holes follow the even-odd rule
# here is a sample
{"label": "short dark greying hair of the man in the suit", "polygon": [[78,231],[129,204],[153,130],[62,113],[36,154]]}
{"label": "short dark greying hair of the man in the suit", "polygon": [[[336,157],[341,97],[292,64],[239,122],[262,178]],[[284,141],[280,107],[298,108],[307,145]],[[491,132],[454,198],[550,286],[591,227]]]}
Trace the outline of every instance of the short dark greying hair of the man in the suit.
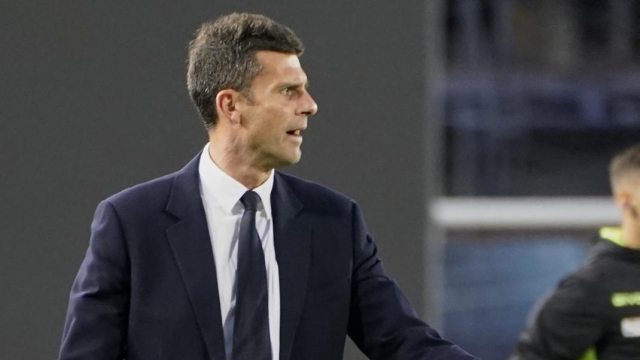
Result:
{"label": "short dark greying hair of the man in the suit", "polygon": [[189,44],[187,88],[207,128],[216,125],[215,97],[223,89],[246,96],[262,67],[258,51],[302,55],[302,41],[288,27],[258,14],[233,13],[204,23]]}

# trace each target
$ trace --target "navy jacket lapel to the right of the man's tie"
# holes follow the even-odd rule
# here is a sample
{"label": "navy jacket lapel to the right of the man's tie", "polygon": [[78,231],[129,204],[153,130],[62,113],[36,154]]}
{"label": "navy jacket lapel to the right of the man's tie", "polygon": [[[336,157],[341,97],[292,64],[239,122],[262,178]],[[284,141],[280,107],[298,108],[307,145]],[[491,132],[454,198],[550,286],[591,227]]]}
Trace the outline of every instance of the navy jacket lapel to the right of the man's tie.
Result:
{"label": "navy jacket lapel to the right of the man's tie", "polygon": [[280,272],[280,360],[288,360],[306,295],[312,230],[302,203],[277,172],[271,207]]}

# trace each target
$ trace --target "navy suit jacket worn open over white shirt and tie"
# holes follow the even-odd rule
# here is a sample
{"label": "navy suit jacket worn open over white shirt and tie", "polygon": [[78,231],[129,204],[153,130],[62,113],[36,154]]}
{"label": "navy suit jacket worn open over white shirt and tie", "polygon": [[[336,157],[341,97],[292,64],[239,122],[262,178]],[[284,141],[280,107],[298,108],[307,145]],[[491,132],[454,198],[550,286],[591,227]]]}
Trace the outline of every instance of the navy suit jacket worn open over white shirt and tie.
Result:
{"label": "navy suit jacket worn open over white shirt and tie", "polygon": [[[100,203],[60,359],[225,359],[198,159]],[[341,359],[347,334],[371,359],[474,359],[418,319],[351,199],[279,172],[271,197],[281,360]]]}

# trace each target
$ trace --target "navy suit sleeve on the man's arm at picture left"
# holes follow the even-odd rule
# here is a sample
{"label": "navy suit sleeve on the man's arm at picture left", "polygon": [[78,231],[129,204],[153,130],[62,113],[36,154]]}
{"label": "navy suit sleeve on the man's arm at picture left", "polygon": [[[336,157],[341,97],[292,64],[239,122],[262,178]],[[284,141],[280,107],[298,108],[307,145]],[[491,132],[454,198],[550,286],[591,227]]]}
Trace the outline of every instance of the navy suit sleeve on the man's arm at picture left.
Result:
{"label": "navy suit sleeve on the man's arm at picture left", "polygon": [[113,206],[103,201],[71,289],[60,360],[124,358],[129,272],[120,221]]}

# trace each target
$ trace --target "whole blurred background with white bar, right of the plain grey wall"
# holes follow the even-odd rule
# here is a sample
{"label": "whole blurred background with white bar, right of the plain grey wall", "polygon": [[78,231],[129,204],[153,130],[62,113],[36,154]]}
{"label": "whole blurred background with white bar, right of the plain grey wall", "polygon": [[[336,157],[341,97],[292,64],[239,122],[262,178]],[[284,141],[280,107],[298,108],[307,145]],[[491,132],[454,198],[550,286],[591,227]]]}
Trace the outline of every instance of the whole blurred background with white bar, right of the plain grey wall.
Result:
{"label": "whole blurred background with white bar, right of the plain grey wall", "polygon": [[640,3],[441,10],[446,197],[432,214],[445,244],[444,329],[483,359],[505,359],[534,302],[616,223],[607,165],[640,140]]}

